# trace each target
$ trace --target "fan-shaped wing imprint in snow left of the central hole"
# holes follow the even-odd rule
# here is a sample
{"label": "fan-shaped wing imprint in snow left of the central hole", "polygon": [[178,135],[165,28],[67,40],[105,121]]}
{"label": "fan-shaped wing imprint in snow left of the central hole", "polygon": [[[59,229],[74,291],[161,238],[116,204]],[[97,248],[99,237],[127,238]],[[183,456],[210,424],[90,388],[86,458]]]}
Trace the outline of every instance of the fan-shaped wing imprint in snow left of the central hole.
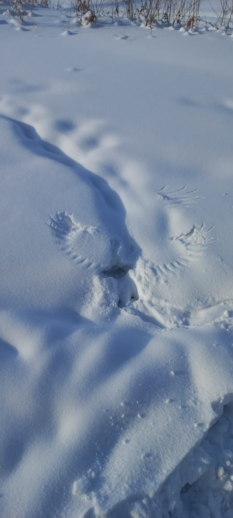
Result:
{"label": "fan-shaped wing imprint in snow left of the central hole", "polygon": [[91,266],[94,258],[93,256],[83,257],[79,253],[79,240],[83,234],[94,234],[97,231],[96,227],[76,223],[72,219],[72,214],[68,214],[66,211],[57,211],[54,217],[50,216],[49,227],[55,241],[61,244],[61,250],[70,255],[78,264],[85,263],[86,266]]}

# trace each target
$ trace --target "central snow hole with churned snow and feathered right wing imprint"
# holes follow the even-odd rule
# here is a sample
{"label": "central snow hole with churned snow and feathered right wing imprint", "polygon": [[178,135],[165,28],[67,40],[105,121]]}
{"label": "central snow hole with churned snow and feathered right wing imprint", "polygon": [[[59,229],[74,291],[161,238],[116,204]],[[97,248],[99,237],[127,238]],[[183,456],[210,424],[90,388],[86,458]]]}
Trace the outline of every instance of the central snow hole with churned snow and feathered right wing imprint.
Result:
{"label": "central snow hole with churned snow and feathered right wing imprint", "polygon": [[[139,257],[136,263],[133,257],[131,262],[123,261],[120,241],[115,242],[113,239],[112,262],[102,270],[102,275],[113,278],[112,290],[119,296],[118,307],[125,308],[159,328],[198,326],[205,323],[205,318],[208,322],[221,318],[223,314],[221,303],[214,303],[213,310],[212,306],[208,309],[207,306],[203,306],[203,308],[193,307],[184,311],[183,308],[176,306],[175,301],[172,303],[169,299],[169,286],[172,286],[175,277],[179,278],[190,261],[196,260],[197,252],[214,240],[210,231],[211,228],[207,228],[204,224],[193,225],[187,234],[172,238],[182,244],[183,254],[157,265],[143,256]],[[166,289],[166,295],[164,295],[164,289]]]}

